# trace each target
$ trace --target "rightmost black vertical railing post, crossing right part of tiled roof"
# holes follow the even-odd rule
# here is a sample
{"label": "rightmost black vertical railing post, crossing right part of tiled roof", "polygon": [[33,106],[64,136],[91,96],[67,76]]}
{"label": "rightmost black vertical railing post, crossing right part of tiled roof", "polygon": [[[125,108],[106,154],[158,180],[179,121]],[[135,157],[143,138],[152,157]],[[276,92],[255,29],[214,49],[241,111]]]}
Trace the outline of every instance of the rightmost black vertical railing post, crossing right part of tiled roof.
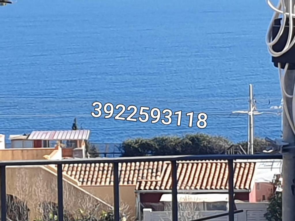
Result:
{"label": "rightmost black vertical railing post, crossing right part of tiled roof", "polygon": [[228,209],[228,220],[234,221],[234,165],[233,160],[228,160],[228,195],[229,195],[229,209]]}

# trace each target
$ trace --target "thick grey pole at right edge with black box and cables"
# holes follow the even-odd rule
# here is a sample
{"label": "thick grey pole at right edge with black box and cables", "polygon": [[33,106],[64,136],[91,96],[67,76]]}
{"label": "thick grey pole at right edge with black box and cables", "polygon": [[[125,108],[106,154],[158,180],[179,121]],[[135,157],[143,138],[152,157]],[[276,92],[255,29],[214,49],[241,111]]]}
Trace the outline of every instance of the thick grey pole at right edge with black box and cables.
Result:
{"label": "thick grey pole at right edge with black box and cables", "polygon": [[[279,0],[278,6],[267,4],[275,11],[266,35],[272,62],[279,68],[283,95],[283,142],[278,147],[283,155],[283,221],[295,220],[295,0]],[[284,69],[282,76],[281,69]]]}

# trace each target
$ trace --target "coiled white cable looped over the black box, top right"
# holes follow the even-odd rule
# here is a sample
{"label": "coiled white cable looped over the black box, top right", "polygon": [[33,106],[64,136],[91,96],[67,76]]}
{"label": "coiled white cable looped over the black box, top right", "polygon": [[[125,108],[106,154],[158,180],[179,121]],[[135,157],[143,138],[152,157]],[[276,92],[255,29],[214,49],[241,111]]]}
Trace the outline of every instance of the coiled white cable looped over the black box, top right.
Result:
{"label": "coiled white cable looped over the black box, top right", "polygon": [[[268,32],[266,34],[266,44],[268,45],[268,51],[270,52],[270,54],[273,57],[279,57],[279,56],[283,55],[284,53],[286,53],[287,51],[289,51],[295,45],[295,37],[292,38],[292,34],[294,31],[293,30],[294,29],[293,19],[289,19],[289,34],[288,34],[288,39],[287,39],[285,47],[280,52],[276,52],[272,48],[273,45],[278,42],[278,40],[281,38],[281,36],[283,34],[283,31],[284,31],[284,28],[286,25],[286,21],[287,21],[287,17],[289,17],[289,18],[295,17],[295,14],[293,13],[295,0],[289,0],[289,5],[288,5],[289,11],[286,11],[285,0],[279,0],[277,7],[275,7],[270,0],[267,0],[266,2],[275,11],[273,18],[271,19],[271,23],[269,25],[269,28],[268,28]],[[279,18],[280,15],[282,15],[282,24],[281,24],[281,27],[278,31],[278,34],[272,40],[273,22],[275,19]]]}

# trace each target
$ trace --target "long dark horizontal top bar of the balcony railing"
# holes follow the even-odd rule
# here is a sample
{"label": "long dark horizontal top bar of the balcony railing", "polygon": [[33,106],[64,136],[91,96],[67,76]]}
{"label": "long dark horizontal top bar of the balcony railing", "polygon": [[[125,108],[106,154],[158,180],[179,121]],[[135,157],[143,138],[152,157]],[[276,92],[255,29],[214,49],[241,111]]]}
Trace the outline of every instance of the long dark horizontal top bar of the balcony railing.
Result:
{"label": "long dark horizontal top bar of the balcony railing", "polygon": [[128,163],[128,162],[155,162],[155,161],[189,161],[189,160],[263,160],[282,159],[281,154],[257,154],[257,155],[184,155],[184,156],[141,156],[141,157],[117,157],[117,158],[79,158],[63,160],[14,160],[0,161],[0,166],[25,166],[25,165],[49,165],[49,164],[90,164],[90,163]]}

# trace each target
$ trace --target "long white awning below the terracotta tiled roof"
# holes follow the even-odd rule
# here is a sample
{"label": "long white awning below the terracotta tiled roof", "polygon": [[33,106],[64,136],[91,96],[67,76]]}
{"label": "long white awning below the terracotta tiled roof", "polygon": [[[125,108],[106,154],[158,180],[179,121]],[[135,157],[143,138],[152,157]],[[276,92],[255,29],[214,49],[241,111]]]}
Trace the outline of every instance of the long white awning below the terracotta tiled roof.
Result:
{"label": "long white awning below the terracotta tiled roof", "polygon": [[[163,194],[160,202],[171,202],[172,194]],[[228,202],[228,194],[177,194],[178,202]]]}

